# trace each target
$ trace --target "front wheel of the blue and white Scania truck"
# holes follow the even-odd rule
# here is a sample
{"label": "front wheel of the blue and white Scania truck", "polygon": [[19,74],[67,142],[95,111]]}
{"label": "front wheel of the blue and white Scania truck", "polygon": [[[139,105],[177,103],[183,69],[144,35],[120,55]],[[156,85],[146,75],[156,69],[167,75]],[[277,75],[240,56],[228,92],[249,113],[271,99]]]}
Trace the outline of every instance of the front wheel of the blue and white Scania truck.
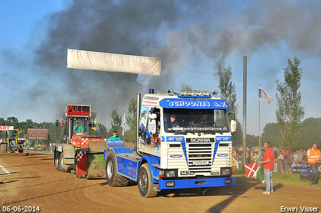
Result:
{"label": "front wheel of the blue and white Scania truck", "polygon": [[151,182],[150,170],[148,163],[144,163],[138,172],[138,188],[143,197],[155,197],[157,191],[153,190],[156,184]]}

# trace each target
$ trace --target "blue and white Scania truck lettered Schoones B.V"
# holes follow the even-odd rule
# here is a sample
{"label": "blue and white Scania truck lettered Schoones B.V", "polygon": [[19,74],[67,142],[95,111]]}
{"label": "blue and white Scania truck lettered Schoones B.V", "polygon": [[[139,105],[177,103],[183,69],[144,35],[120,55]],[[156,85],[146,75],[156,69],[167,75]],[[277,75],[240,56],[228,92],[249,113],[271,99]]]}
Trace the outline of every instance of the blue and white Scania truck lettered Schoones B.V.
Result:
{"label": "blue and white Scania truck lettered Schoones B.V", "polygon": [[[144,197],[162,189],[201,188],[218,194],[235,185],[232,134],[226,100],[218,92],[154,92],[137,94],[135,148],[106,140],[105,174],[110,186],[137,181]],[[233,117],[233,114],[232,114]]]}

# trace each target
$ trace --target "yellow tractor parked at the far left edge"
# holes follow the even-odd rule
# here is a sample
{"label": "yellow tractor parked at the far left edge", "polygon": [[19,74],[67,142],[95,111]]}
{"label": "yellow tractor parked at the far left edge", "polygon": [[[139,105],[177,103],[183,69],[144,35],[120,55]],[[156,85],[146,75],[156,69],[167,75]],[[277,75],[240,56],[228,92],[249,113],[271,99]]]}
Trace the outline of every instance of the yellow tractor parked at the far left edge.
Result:
{"label": "yellow tractor parked at the far left edge", "polygon": [[3,130],[5,138],[1,141],[0,152],[16,152],[23,153],[24,152],[24,143],[26,142],[26,138],[19,138],[19,134],[21,131],[18,129],[13,130]]}

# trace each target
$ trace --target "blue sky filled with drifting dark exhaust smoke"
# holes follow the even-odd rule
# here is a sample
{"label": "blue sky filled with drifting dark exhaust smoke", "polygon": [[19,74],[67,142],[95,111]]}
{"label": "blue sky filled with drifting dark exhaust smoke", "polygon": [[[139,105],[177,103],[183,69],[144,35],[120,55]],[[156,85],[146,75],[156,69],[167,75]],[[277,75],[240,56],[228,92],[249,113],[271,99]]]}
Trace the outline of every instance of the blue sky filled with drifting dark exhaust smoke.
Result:
{"label": "blue sky filled with drifting dark exhaust smoke", "polygon": [[[0,117],[60,119],[65,104],[90,104],[105,124],[136,93],[218,89],[217,65],[232,66],[242,121],[243,56],[247,56],[247,133],[275,121],[276,79],[301,60],[305,116],[321,117],[319,1],[0,1]],[[72,70],[67,48],[159,57],[161,77]]]}

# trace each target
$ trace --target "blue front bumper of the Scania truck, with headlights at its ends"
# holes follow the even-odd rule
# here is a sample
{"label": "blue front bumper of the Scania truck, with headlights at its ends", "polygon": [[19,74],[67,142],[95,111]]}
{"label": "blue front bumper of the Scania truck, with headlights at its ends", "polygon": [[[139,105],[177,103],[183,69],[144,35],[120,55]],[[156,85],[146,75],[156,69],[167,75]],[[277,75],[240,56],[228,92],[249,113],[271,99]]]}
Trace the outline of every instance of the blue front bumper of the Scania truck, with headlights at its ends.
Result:
{"label": "blue front bumper of the Scania truck, with headlights at its ends", "polygon": [[158,180],[159,189],[199,188],[235,185],[235,177],[219,177],[205,179]]}

